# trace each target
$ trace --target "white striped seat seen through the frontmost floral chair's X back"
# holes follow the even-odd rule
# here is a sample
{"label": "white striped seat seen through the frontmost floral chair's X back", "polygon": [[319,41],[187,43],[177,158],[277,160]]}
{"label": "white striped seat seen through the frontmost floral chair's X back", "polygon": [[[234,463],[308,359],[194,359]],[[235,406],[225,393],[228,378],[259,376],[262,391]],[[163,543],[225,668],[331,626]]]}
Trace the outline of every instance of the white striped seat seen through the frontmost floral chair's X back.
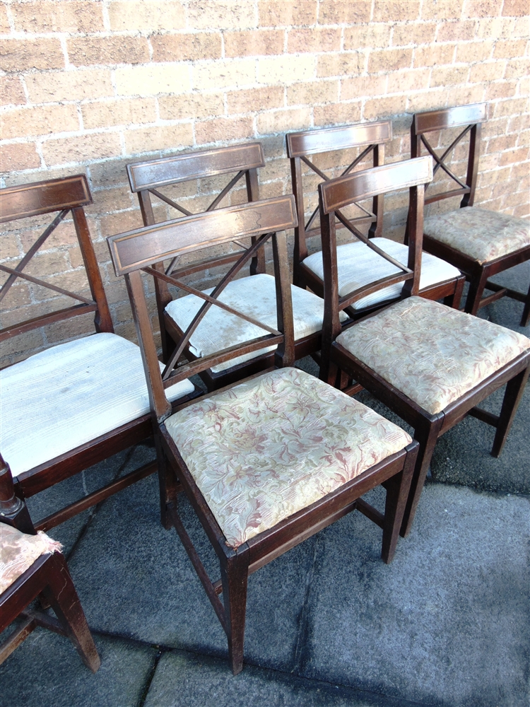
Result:
{"label": "white striped seat seen through the frontmost floral chair's X back", "polygon": [[[206,294],[213,288],[204,290]],[[295,325],[295,341],[310,334],[322,331],[324,320],[324,300],[312,292],[291,286],[293,298],[293,318]],[[276,283],[271,275],[258,274],[234,280],[220,294],[219,300],[230,305],[235,310],[244,312],[247,316],[276,329]],[[172,300],[165,311],[167,315],[184,331],[191,324],[193,317],[203,305],[204,300],[196,295],[187,295]],[[345,317],[347,318],[347,317]],[[216,351],[222,351],[229,346],[242,344],[250,339],[263,337],[269,332],[266,329],[246,322],[244,319],[230,314],[213,305],[189,341],[190,349],[195,356],[208,356]],[[273,351],[276,346],[269,346],[252,354],[239,356],[226,363],[212,368],[214,373],[226,370],[237,363],[249,361],[251,358]]]}

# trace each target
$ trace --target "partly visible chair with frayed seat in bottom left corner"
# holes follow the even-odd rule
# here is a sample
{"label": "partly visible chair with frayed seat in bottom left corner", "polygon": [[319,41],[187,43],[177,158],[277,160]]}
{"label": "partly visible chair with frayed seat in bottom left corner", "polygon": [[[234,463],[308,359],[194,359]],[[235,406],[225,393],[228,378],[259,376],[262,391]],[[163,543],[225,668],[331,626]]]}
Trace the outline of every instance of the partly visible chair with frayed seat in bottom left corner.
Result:
{"label": "partly visible chair with frayed seat in bottom left corner", "polygon": [[[68,636],[84,664],[96,672],[100,657],[73,586],[61,545],[35,534],[25,503],[15,495],[13,479],[0,457],[0,632],[23,620],[0,644],[0,663],[37,627]],[[28,609],[37,597],[54,610]]]}

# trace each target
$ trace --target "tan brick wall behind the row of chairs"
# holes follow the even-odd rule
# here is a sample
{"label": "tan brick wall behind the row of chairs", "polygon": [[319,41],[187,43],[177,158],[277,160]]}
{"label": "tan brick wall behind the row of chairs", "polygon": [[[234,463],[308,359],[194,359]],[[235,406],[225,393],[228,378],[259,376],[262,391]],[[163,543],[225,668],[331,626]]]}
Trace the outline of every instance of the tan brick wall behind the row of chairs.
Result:
{"label": "tan brick wall behind the row of chairs", "polygon": [[[526,0],[7,0],[1,185],[88,175],[90,230],[117,332],[127,337],[129,305],[104,238],[141,225],[124,168],[133,159],[260,139],[269,197],[290,192],[285,132],[390,117],[387,159],[397,160],[409,154],[411,113],[487,101],[476,203],[528,216],[527,12]],[[343,161],[321,164],[334,160]],[[188,190],[189,209],[199,210],[211,187]],[[403,204],[387,202],[385,228],[396,237]],[[157,211],[165,218],[165,206]],[[2,235],[1,258],[17,262],[39,225],[18,222]],[[50,278],[61,270],[82,286],[68,223],[38,262]],[[13,287],[11,307],[35,315],[57,305],[40,289]],[[88,327],[26,334],[4,356]]]}

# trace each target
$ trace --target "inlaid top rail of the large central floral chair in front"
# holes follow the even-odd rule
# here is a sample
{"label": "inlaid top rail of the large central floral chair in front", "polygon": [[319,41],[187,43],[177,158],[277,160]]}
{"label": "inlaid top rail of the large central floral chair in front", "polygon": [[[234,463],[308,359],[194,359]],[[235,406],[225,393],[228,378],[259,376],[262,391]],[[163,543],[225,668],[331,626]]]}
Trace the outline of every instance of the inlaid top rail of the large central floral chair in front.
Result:
{"label": "inlaid top rail of the large central floral chair in front", "polygon": [[124,275],[204,247],[298,226],[293,194],[193,214],[107,238],[116,274]]}

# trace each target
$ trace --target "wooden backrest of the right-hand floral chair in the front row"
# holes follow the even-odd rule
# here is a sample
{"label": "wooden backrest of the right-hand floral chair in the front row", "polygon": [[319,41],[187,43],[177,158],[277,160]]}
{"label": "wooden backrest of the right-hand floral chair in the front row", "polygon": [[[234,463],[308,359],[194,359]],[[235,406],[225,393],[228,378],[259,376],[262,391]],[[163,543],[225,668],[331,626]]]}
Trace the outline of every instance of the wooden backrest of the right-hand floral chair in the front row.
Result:
{"label": "wooden backrest of the right-hand floral chair in the front row", "polygon": [[[337,177],[319,185],[320,223],[322,227],[322,259],[324,262],[324,327],[322,346],[329,344],[341,332],[339,312],[356,300],[390,285],[404,282],[402,297],[417,295],[420,288],[421,247],[423,243],[423,199],[425,185],[432,180],[432,160],[423,156],[413,160],[394,162],[353,175]],[[399,268],[400,272],[379,279],[339,298],[337,279],[336,226],[338,209],[360,199],[388,194],[401,189],[410,190],[408,218],[410,235],[408,262],[405,267],[369,238],[363,236],[366,247]]]}

